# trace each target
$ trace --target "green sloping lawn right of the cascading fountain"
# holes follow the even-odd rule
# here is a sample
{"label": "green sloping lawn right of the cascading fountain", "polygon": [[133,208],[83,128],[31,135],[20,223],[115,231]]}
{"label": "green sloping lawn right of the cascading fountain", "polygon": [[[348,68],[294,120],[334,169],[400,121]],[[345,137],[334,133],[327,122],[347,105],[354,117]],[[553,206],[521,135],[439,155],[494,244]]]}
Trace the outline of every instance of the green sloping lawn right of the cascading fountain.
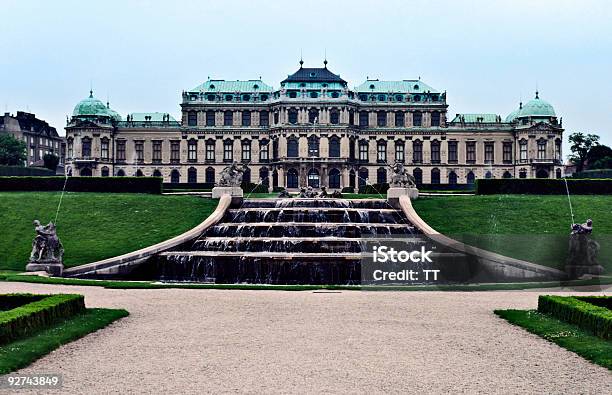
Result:
{"label": "green sloping lawn right of the cascading fountain", "polygon": [[[612,272],[612,196],[572,196],[577,222],[594,221],[599,260]],[[564,265],[570,226],[566,196],[424,197],[414,201],[434,229],[466,243],[552,267]]]}

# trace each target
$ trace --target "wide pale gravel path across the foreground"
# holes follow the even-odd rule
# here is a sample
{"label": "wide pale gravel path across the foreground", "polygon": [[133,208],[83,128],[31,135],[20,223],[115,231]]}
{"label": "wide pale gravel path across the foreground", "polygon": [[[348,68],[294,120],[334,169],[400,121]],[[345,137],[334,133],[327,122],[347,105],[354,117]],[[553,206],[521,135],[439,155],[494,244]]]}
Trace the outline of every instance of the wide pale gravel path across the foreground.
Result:
{"label": "wide pale gravel path across the foreground", "polygon": [[0,285],[129,310],[21,371],[63,374],[62,393],[612,393],[608,370],[492,312],[537,292]]}

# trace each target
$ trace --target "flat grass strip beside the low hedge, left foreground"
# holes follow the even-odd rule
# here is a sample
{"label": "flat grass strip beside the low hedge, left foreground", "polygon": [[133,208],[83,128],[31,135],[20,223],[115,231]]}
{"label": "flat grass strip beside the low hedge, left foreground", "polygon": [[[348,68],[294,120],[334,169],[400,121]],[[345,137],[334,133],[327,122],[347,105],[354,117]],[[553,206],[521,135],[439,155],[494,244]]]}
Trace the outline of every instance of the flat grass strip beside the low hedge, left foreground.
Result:
{"label": "flat grass strip beside the low hedge, left foreground", "polygon": [[33,336],[0,346],[0,374],[23,368],[62,344],[104,328],[128,312],[115,309],[87,309],[84,314],[61,321]]}

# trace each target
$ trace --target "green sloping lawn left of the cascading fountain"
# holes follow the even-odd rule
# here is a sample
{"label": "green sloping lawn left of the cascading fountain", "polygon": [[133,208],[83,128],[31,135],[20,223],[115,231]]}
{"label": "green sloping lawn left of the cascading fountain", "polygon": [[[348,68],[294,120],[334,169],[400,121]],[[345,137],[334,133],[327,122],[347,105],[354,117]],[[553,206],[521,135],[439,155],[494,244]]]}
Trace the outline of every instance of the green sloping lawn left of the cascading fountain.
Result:
{"label": "green sloping lawn left of the cascading fountain", "polygon": [[[32,248],[32,221],[53,221],[58,192],[0,193],[0,270],[24,270]],[[67,267],[137,250],[202,222],[217,200],[198,196],[78,193],[64,195],[57,232]]]}

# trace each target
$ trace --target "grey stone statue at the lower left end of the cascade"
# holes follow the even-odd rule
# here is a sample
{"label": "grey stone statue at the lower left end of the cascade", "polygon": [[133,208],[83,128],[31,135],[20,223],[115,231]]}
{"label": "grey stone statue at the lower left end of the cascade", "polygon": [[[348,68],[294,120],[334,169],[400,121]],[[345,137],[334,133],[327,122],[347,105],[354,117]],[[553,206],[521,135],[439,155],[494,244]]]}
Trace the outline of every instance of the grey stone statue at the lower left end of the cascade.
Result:
{"label": "grey stone statue at the lower left end of the cascade", "polygon": [[32,240],[32,252],[26,270],[44,270],[49,274],[61,275],[64,268],[64,247],[57,237],[55,224],[49,222],[42,225],[39,220],[34,220],[34,231],[36,236]]}

